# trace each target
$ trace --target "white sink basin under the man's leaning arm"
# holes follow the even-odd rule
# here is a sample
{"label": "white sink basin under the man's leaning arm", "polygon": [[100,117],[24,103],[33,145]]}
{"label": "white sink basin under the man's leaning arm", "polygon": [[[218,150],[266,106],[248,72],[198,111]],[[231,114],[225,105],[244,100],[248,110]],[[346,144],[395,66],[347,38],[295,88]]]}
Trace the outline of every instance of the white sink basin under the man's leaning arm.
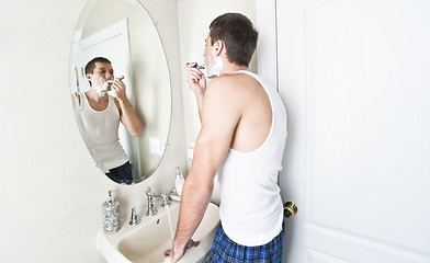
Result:
{"label": "white sink basin under the man's leaning arm", "polygon": [[[142,216],[142,222],[129,226],[128,220],[113,235],[104,233],[103,229],[97,237],[97,248],[109,263],[160,263],[171,249],[180,204],[172,202],[168,208],[157,206],[158,214],[151,217]],[[201,225],[192,237],[200,244],[186,251],[179,261],[181,263],[204,262],[212,248],[216,229],[219,224],[218,207],[208,204]]]}

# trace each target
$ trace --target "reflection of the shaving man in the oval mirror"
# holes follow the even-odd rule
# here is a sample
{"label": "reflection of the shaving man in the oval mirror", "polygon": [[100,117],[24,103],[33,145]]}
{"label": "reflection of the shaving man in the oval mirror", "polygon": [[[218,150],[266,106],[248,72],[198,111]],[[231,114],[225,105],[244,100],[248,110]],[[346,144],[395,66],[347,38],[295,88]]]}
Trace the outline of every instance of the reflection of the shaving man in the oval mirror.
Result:
{"label": "reflection of the shaving man in the oval mirror", "polygon": [[91,89],[77,93],[86,144],[102,171],[116,183],[133,183],[132,165],[120,144],[120,121],[132,136],[142,124],[125,93],[125,84],[114,78],[110,60],[97,57],[86,66]]}

